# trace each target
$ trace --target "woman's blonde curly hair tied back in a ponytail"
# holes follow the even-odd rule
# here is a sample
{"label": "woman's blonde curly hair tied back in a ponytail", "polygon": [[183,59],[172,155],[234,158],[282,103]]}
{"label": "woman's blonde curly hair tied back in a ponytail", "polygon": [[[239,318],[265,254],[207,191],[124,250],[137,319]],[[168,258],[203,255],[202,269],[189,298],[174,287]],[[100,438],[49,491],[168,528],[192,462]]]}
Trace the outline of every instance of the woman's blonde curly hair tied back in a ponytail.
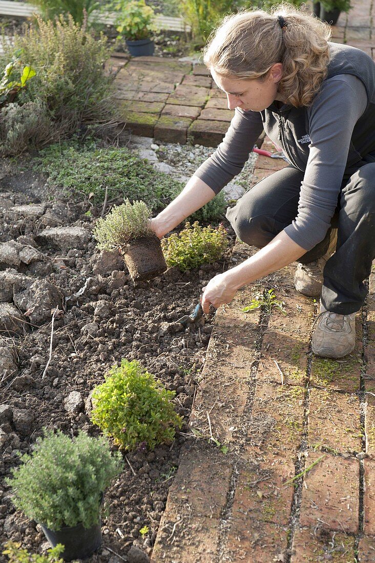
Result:
{"label": "woman's blonde curly hair tied back in a ponytail", "polygon": [[[285,25],[281,28],[278,16]],[[281,20],[282,21],[282,20]],[[279,93],[287,104],[309,106],[327,76],[330,27],[288,3],[226,16],[204,48],[204,62],[222,76],[264,79],[283,64]]]}

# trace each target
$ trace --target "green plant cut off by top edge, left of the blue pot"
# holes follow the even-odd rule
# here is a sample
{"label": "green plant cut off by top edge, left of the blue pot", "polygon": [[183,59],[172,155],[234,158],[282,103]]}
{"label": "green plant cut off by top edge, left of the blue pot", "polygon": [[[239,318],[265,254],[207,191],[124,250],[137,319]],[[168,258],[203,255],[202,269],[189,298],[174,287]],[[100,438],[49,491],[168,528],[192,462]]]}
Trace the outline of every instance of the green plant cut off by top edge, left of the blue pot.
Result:
{"label": "green plant cut off by top edge, left of the blue pot", "polygon": [[56,20],[60,14],[70,14],[76,24],[80,25],[86,17],[90,21],[93,12],[100,7],[100,2],[96,0],[28,0],[28,2],[39,8],[44,21]]}

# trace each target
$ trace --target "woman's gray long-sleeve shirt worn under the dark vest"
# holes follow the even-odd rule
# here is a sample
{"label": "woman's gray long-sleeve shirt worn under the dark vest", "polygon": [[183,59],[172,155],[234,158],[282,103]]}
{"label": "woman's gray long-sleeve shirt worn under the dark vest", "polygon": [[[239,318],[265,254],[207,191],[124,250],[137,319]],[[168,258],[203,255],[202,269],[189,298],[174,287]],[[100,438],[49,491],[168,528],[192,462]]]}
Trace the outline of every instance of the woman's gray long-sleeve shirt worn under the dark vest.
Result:
{"label": "woman's gray long-sleeve shirt worn under the dark vest", "polygon": [[[267,131],[264,111],[258,113],[236,108],[222,143],[195,175],[218,193],[241,171],[264,128],[271,140],[284,145],[290,163],[305,171],[298,215],[285,232],[308,251],[327,233],[351,160],[353,164],[360,160],[351,141],[354,127],[368,104],[366,88],[359,78],[352,74],[334,75],[323,82],[310,108],[293,109],[295,119],[289,117],[288,109],[281,110],[284,142],[275,131]],[[277,112],[277,108],[272,104],[265,111]],[[301,123],[304,129],[301,129]],[[375,162],[375,153],[373,157]]]}

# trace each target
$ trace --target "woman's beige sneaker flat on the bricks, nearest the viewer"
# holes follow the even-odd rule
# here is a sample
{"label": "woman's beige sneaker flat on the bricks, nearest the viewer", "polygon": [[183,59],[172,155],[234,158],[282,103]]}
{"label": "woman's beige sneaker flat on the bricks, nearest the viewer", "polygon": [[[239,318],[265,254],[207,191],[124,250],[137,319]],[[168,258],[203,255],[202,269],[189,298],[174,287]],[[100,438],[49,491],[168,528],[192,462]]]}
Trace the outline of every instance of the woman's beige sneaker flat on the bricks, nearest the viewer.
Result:
{"label": "woman's beige sneaker flat on the bricks, nearest the viewer", "polygon": [[355,347],[355,315],[339,315],[320,305],[312,334],[312,351],[324,358],[343,358]]}

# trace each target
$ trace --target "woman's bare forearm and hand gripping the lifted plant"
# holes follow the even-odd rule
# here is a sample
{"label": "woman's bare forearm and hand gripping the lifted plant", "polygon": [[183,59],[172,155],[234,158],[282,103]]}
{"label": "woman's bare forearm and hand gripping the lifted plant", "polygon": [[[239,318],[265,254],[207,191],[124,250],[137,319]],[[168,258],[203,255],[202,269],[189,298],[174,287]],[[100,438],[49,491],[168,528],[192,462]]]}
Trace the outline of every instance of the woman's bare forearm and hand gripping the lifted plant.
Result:
{"label": "woman's bare forearm and hand gripping the lifted plant", "polygon": [[215,197],[203,180],[192,176],[182,192],[159,215],[151,220],[151,229],[161,238],[189,215]]}

